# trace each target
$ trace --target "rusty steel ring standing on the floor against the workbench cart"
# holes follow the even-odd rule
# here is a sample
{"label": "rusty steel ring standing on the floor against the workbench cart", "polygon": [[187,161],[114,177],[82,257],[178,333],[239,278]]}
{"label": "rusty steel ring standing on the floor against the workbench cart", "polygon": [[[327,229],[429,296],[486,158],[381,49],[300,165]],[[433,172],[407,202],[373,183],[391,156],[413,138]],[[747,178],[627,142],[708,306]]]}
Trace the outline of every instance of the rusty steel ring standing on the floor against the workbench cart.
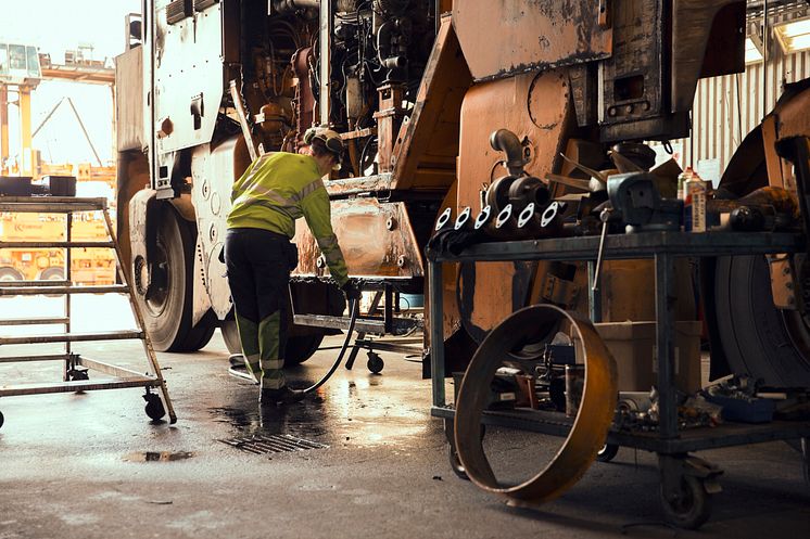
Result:
{"label": "rusty steel ring standing on the floor against the workbench cart", "polygon": [[[554,459],[536,475],[517,485],[495,477],[480,437],[481,419],[489,403],[490,384],[510,350],[540,328],[568,321],[583,344],[585,383],[579,412]],[[455,441],[469,478],[490,492],[524,503],[553,500],[587,471],[605,444],[617,403],[616,362],[590,320],[552,305],[533,305],[510,315],[481,343],[467,368],[456,399]]]}

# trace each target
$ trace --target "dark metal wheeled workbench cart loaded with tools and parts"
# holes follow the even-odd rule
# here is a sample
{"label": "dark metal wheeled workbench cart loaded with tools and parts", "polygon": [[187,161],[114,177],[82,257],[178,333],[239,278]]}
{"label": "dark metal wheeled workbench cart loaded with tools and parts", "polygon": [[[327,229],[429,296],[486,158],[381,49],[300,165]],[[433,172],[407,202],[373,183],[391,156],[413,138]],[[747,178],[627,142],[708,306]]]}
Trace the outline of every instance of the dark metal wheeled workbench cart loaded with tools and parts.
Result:
{"label": "dark metal wheeled workbench cart loaded with tools and parts", "polygon": [[[491,262],[519,260],[586,261],[588,265],[590,310],[593,321],[598,321],[600,310],[599,291],[594,291],[596,273],[597,236],[567,238],[534,241],[483,243],[465,249],[457,256],[446,253],[428,252],[429,313],[430,320],[442,320],[442,262]],[[720,447],[742,446],[773,440],[802,439],[805,477],[810,467],[810,422],[774,421],[763,425],[725,423],[714,428],[693,428],[679,431],[675,394],[675,310],[676,290],[674,260],[680,257],[718,257],[739,255],[767,255],[799,253],[806,248],[801,235],[788,233],[735,234],[709,232],[703,234],[686,232],[641,232],[624,235],[608,235],[605,239],[604,259],[642,259],[655,261],[656,301],[656,360],[658,362],[657,388],[659,395],[660,423],[657,432],[608,433],[606,444],[643,449],[658,453],[661,476],[662,504],[673,524],[683,527],[699,526],[709,514],[708,497],[720,490],[716,483],[721,471],[700,459],[688,455],[691,451]],[[451,455],[455,449],[455,410],[445,401],[444,339],[441,323],[431,323],[431,415],[442,418],[445,434],[451,445]],[[567,436],[573,419],[564,413],[544,412],[529,409],[512,411],[484,411],[483,424],[532,431],[554,436]],[[688,480],[685,480],[687,479]],[[703,495],[692,498],[692,514],[703,515],[697,522],[680,515],[678,501],[689,498],[684,490],[701,489]]]}

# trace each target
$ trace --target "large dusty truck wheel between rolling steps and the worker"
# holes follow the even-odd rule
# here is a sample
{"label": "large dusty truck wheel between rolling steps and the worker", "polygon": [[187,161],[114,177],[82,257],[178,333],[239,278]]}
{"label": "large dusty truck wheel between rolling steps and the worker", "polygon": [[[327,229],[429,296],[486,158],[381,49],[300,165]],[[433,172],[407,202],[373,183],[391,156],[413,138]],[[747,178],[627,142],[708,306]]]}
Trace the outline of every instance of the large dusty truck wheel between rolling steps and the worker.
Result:
{"label": "large dusty truck wheel between rolling steps and the worker", "polygon": [[[159,351],[199,350],[208,344],[216,329],[212,312],[197,325],[191,324],[194,239],[193,224],[172,207],[161,210],[154,259],[150,260],[151,284],[145,295],[136,294],[152,346]],[[144,272],[135,268],[132,274]]]}

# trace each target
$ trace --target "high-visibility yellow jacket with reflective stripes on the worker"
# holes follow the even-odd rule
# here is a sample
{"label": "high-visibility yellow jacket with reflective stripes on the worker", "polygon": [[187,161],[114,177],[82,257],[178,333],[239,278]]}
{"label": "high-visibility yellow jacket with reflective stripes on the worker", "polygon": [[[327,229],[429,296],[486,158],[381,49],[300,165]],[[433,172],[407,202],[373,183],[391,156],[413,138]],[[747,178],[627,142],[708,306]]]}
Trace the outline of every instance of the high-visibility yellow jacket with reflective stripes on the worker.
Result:
{"label": "high-visibility yellow jacket with reflective stripes on the worker", "polygon": [[329,194],[314,158],[286,152],[264,154],[233,183],[230,201],[229,229],[263,229],[292,239],[295,219],[306,219],[332,278],[340,286],[349,280],[332,230]]}

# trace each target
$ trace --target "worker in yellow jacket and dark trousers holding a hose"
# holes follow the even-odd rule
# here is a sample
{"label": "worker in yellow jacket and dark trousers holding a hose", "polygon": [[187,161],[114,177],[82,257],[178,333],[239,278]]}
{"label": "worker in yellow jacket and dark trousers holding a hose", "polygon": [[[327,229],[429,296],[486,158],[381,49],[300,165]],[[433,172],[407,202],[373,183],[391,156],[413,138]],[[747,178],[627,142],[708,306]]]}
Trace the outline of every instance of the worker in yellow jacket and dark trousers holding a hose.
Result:
{"label": "worker in yellow jacket and dark trousers holding a hose", "polygon": [[231,192],[225,261],[248,372],[260,383],[262,405],[298,402],[303,390],[288,387],[284,373],[290,271],[298,266],[291,243],[304,217],[329,272],[347,299],[359,291],[332,231],[329,194],[321,178],[340,168],[343,141],[326,128],[307,130],[308,155],[267,153],[254,161]]}

